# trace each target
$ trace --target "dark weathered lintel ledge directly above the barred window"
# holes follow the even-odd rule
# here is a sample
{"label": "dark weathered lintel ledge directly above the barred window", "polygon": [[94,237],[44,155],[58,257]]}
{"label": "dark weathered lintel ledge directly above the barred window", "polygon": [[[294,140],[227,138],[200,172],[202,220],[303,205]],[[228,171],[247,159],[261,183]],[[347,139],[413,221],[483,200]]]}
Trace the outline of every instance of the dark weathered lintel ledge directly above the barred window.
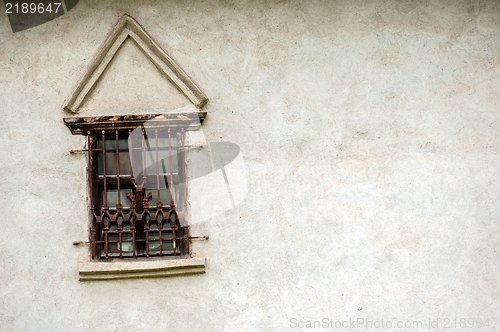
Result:
{"label": "dark weathered lintel ledge directly above the barred window", "polygon": [[64,118],[64,123],[73,135],[100,133],[102,130],[126,129],[134,130],[137,127],[184,127],[198,129],[205,120],[207,112],[181,112],[166,114],[134,114],[113,116],[91,116]]}

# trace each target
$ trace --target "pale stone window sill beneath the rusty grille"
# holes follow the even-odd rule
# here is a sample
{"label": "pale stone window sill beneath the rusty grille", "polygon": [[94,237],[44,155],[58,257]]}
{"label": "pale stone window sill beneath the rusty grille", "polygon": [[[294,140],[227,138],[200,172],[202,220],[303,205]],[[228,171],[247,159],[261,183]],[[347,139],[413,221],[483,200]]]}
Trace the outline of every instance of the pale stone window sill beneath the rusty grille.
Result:
{"label": "pale stone window sill beneath the rusty grille", "polygon": [[85,262],[78,266],[79,280],[160,278],[205,273],[205,258],[136,262]]}

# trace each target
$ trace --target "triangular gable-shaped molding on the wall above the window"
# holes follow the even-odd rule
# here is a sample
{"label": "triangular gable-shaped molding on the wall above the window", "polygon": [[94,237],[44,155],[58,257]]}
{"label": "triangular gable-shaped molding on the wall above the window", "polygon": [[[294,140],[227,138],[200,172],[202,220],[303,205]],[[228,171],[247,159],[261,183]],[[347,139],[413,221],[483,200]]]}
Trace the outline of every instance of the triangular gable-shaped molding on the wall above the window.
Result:
{"label": "triangular gable-shaped molding on the wall above the window", "polygon": [[99,77],[116,55],[121,45],[130,38],[149,60],[158,68],[182,94],[186,96],[198,109],[208,101],[207,96],[186,75],[181,67],[163,51],[160,46],[147,34],[146,31],[131,16],[123,15],[115,25],[110,35],[101,46],[92,60],[89,68],[78,83],[75,91],[68,98],[64,109],[76,114],[87,95],[96,85]]}

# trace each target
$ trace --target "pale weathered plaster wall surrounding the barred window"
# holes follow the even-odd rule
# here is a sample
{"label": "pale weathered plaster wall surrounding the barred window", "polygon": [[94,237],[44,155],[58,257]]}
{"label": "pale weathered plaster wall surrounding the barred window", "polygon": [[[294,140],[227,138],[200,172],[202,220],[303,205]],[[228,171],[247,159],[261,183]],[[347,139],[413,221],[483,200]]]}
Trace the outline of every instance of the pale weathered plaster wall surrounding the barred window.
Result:
{"label": "pale weathered plaster wall surrounding the barred window", "polygon": [[[82,0],[15,34],[2,15],[0,330],[491,324],[500,312],[499,6]],[[72,245],[88,238],[86,161],[69,151],[84,139],[64,126],[62,107],[125,12],[210,98],[207,140],[244,152],[245,201],[192,226],[210,235],[193,241],[204,275],[78,282],[89,259]],[[112,89],[163,91],[129,46],[96,90],[103,115],[171,95],[121,99]],[[120,78],[127,67],[144,72],[132,80],[143,89]]]}

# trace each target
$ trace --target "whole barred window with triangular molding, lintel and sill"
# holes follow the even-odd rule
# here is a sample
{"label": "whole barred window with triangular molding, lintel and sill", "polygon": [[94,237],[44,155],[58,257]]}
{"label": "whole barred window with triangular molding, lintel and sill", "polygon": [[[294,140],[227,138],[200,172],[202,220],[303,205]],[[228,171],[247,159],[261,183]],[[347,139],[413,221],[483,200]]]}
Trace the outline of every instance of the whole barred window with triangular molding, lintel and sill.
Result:
{"label": "whole barred window with triangular molding, lintel and sill", "polygon": [[[182,101],[174,96],[162,105],[166,114],[135,113],[151,111],[138,99],[138,104],[129,105],[134,114],[117,115],[123,114],[117,109],[115,115],[78,117],[95,87],[106,79],[103,73],[112,68],[110,62],[129,41],[171,83],[168,94],[177,90]],[[185,136],[201,127],[207,114],[201,109],[207,101],[138,22],[129,15],[119,19],[64,105],[71,114],[64,122],[72,134],[86,136],[88,153],[89,243],[94,261],[80,262],[80,280],[204,273],[204,258],[190,255],[190,239],[201,237],[191,237],[187,223]],[[108,106],[105,110],[110,111]],[[191,258],[130,259],[159,256]],[[122,260],[108,264],[113,258]]]}

